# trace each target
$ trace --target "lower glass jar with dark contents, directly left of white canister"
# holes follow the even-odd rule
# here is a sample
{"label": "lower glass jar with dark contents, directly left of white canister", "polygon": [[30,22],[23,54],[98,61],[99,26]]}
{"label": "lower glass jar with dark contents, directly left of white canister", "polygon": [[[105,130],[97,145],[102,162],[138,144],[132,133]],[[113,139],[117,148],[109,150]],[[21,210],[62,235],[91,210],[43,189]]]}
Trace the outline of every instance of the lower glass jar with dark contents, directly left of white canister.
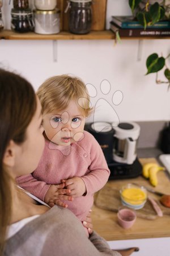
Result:
{"label": "lower glass jar with dark contents, directly left of white canister", "polygon": [[12,9],[11,16],[12,16],[12,19],[11,19],[12,30],[20,33],[33,31],[35,25],[34,25],[33,13],[31,9],[27,9],[27,10]]}

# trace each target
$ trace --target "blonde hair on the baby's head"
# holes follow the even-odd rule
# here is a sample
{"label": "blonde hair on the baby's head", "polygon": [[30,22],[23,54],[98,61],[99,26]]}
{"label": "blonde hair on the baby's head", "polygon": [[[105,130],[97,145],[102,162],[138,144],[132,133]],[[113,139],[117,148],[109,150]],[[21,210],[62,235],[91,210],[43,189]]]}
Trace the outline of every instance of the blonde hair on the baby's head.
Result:
{"label": "blonde hair on the baby's head", "polygon": [[78,104],[85,117],[92,112],[86,85],[79,77],[69,75],[50,77],[39,87],[36,94],[42,105],[42,113],[45,114],[66,109],[71,100]]}

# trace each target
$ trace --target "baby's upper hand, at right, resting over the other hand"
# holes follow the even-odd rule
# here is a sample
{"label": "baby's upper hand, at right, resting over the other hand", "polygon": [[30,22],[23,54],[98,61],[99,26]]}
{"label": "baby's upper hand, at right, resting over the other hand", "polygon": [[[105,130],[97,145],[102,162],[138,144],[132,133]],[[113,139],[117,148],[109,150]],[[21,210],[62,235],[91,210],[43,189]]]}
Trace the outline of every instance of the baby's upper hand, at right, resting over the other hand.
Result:
{"label": "baby's upper hand, at right, resting over the other hand", "polygon": [[61,180],[67,189],[70,189],[71,192],[67,195],[78,197],[86,193],[86,185],[80,177],[73,177],[68,180]]}

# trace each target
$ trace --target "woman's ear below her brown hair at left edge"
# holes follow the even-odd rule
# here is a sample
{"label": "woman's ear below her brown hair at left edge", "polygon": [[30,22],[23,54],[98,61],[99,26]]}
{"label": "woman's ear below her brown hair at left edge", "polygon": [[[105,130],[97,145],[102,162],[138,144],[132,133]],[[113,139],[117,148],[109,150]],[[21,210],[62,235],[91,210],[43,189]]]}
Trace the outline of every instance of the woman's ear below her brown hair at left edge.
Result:
{"label": "woman's ear below her brown hair at left edge", "polygon": [[3,156],[3,164],[8,167],[14,167],[15,164],[15,143],[10,141],[8,144],[5,154]]}

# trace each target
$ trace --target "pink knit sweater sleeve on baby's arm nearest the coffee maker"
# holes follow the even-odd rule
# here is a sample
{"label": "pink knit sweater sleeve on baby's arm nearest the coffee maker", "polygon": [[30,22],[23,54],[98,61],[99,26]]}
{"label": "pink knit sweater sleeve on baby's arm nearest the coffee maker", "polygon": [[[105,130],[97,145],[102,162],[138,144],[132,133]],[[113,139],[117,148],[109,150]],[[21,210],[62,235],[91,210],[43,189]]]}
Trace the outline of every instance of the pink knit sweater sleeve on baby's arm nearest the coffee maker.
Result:
{"label": "pink knit sweater sleeve on baby's arm nearest the coffee maker", "polygon": [[103,151],[101,150],[99,143],[91,134],[90,138],[88,138],[88,147],[89,146],[91,164],[88,167],[88,170],[90,172],[82,177],[86,185],[87,195],[88,193],[95,193],[103,188],[110,175],[110,170]]}

